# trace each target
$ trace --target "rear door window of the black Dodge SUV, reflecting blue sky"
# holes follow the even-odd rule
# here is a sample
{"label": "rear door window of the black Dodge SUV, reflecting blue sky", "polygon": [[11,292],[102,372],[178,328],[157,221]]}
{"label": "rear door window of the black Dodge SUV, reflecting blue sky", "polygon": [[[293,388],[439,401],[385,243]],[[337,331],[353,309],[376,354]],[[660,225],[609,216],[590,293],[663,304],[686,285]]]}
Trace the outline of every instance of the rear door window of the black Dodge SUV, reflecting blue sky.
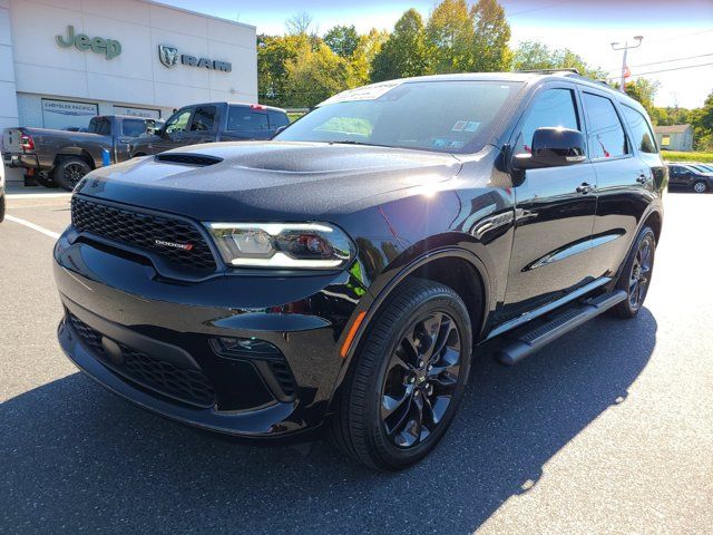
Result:
{"label": "rear door window of the black Dodge SUV, reflecting blue sky", "polygon": [[624,127],[612,100],[590,93],[584,93],[583,100],[589,118],[592,159],[616,158],[629,154]]}

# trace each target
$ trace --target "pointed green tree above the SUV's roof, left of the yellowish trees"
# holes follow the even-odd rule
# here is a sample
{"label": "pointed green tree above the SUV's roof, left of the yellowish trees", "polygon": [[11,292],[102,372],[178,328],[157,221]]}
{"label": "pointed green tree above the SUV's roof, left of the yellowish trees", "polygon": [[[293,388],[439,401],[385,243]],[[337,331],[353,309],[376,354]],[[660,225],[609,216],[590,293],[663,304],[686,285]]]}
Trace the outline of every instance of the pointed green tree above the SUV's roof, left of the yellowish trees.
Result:
{"label": "pointed green tree above the SUV's roof, left of the yellowish trees", "polygon": [[428,65],[423,19],[416,9],[409,9],[397,21],[393,32],[374,56],[371,80],[421,76],[427,72]]}

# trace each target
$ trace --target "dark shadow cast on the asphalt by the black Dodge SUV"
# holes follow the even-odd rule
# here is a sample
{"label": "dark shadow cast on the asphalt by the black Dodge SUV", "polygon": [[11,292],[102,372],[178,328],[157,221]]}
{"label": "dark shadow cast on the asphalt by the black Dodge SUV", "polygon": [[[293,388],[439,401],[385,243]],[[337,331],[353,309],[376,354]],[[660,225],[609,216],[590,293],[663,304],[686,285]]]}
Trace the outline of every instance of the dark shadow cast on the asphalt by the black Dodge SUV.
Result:
{"label": "dark shadow cast on the asphalt by the black Dodge SUV", "polygon": [[[4,533],[467,533],[613,405],[657,324],[600,318],[514,368],[488,348],[420,465],[373,474],[328,445],[236,445],[145,412],[79,373],[0,406]],[[484,354],[485,353],[485,354]],[[573,470],[586,469],[582,465]]]}

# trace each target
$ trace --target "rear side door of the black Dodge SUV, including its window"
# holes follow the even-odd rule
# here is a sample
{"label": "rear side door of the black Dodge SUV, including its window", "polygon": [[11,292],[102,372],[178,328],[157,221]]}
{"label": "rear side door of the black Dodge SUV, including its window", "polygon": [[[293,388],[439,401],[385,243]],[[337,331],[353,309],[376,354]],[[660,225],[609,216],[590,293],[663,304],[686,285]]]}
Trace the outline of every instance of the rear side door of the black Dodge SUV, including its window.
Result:
{"label": "rear side door of the black Dodge SUV, including its window", "polygon": [[[586,88],[582,91],[582,101],[589,132],[589,157],[597,176],[592,265],[597,275],[613,275],[626,256],[638,223],[653,200],[652,167],[655,162],[642,156],[646,153],[632,143],[623,108],[617,106],[612,95]],[[643,117],[641,119],[645,121]],[[633,116],[632,120],[635,120]],[[638,123],[637,132],[643,135]],[[642,139],[637,143],[641,145]],[[653,139],[645,143],[647,150],[656,150]],[[657,155],[654,158],[657,159]]]}

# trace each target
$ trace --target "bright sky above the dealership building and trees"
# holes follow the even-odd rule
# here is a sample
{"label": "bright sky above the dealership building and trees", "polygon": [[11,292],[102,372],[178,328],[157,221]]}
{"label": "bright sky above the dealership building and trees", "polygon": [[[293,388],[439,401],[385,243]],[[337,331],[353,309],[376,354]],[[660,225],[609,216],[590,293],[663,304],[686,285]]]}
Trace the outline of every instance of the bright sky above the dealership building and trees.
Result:
{"label": "bright sky above the dealership building and trees", "polygon": [[[159,0],[179,8],[237,20],[258,33],[283,33],[285,20],[304,11],[322,35],[335,25],[392,30],[409,8],[426,19],[436,0]],[[473,0],[469,0],[473,3]],[[622,51],[611,43],[643,36],[628,51],[632,75],[661,84],[657,106],[694,108],[713,90],[713,0],[500,0],[512,30],[512,46],[537,40],[569,48],[588,64],[618,76]],[[671,61],[670,61],[671,60]],[[707,65],[705,65],[707,64]],[[695,68],[684,68],[701,66]],[[676,69],[676,70],[667,70]],[[667,70],[665,72],[658,72]]]}

